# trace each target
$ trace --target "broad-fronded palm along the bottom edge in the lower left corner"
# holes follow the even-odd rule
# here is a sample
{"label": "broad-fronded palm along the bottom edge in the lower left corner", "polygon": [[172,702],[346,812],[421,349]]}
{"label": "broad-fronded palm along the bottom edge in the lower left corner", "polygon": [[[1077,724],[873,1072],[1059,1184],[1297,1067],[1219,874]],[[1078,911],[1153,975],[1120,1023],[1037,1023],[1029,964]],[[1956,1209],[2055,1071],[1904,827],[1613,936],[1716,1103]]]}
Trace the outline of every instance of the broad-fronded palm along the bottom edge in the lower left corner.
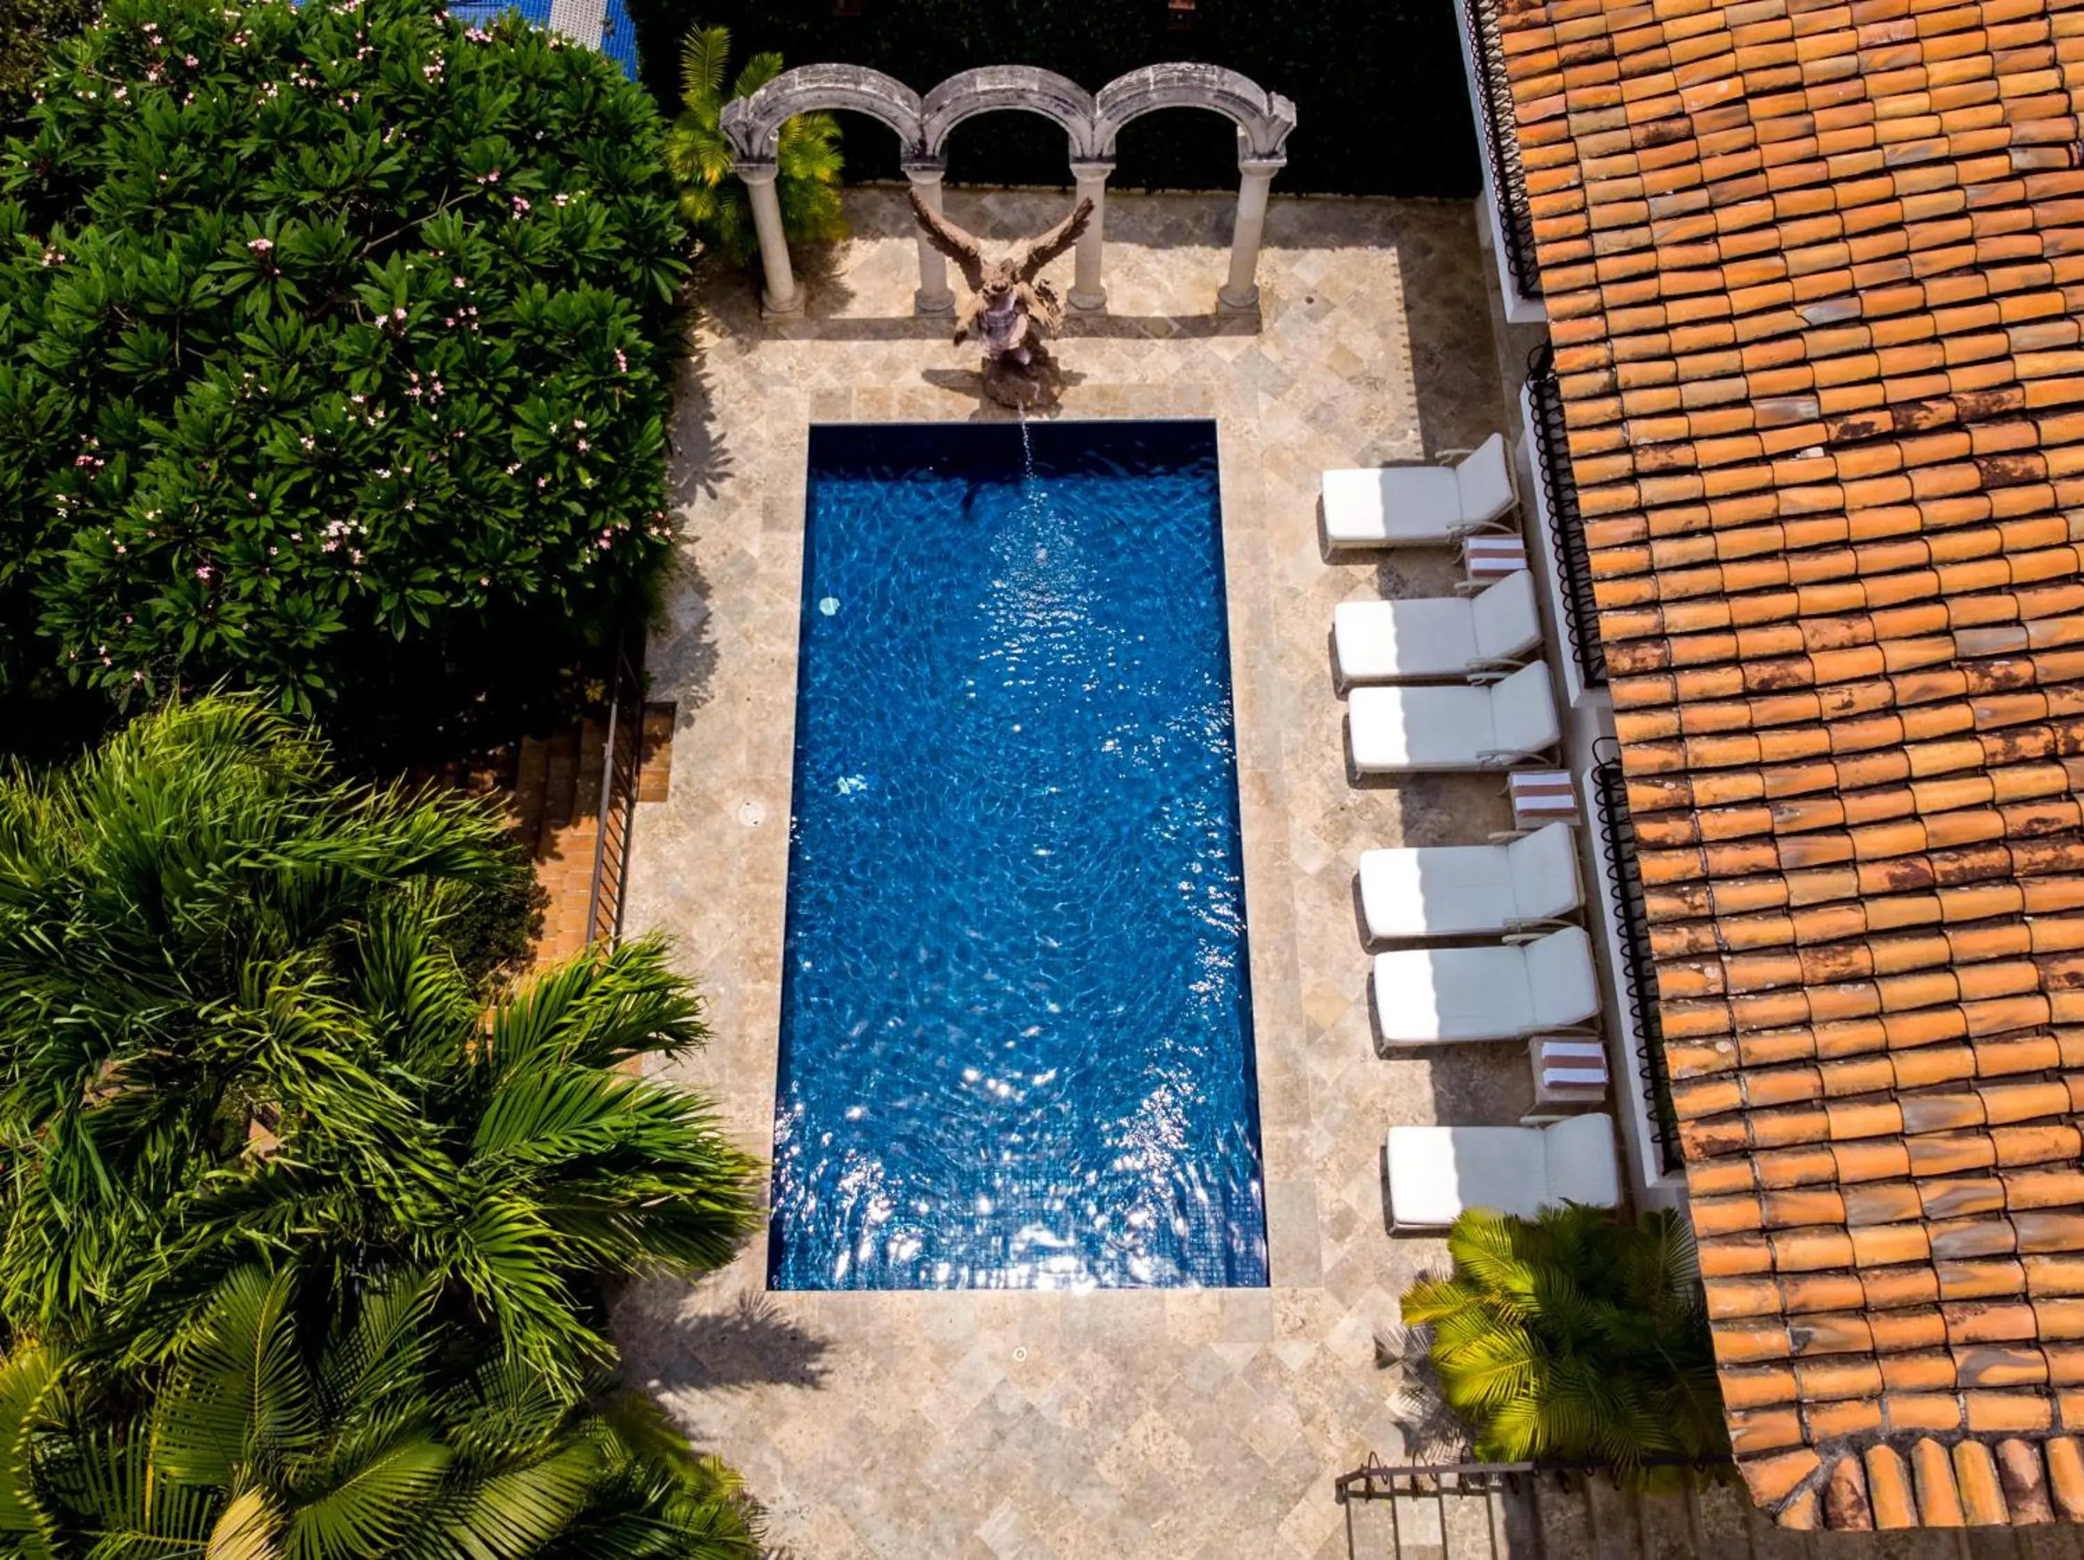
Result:
{"label": "broad-fronded palm along the bottom edge in the lower left corner", "polygon": [[[750,1560],[736,1479],[640,1398],[554,1389],[396,1273],[344,1308],[227,1275],[144,1402],[58,1348],[0,1360],[0,1548],[38,1560]],[[342,1314],[344,1310],[344,1314]]]}

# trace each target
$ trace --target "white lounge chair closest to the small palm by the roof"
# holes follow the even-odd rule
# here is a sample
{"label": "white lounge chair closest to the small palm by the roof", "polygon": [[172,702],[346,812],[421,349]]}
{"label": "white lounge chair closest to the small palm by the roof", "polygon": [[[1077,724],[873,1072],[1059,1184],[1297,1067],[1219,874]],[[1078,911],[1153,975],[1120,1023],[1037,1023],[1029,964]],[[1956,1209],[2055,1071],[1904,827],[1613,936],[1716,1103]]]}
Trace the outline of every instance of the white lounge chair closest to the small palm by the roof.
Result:
{"label": "white lounge chair closest to the small palm by the roof", "polygon": [[1446,1229],[1465,1208],[1532,1218],[1555,1202],[1621,1204],[1613,1116],[1546,1127],[1390,1127],[1390,1231]]}

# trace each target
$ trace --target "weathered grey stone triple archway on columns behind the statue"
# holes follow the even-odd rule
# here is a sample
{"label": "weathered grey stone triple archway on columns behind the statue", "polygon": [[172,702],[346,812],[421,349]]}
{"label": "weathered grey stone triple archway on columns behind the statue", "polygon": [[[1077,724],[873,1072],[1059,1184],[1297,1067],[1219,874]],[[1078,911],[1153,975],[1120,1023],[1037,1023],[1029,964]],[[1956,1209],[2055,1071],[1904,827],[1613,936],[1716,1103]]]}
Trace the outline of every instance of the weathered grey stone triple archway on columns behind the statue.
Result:
{"label": "weathered grey stone triple archway on columns behind the statue", "polygon": [[[752,198],[752,223],[761,240],[767,273],[763,298],[769,314],[802,310],[782,233],[782,202],[775,196],[775,146],[782,125],[796,115],[850,108],[896,131],[904,177],[919,198],[940,210],[940,181],[948,169],[948,133],[965,119],[998,108],[1023,108],[1063,125],[1071,137],[1071,177],[1077,196],[1092,202],[1092,223],[1077,240],[1075,279],[1069,304],[1077,310],[1107,308],[1100,279],[1102,225],[1107,217],[1107,175],[1115,171],[1115,135],[1132,119],[1159,108],[1211,108],[1238,127],[1238,221],[1230,240],[1230,277],[1217,292],[1225,310],[1259,306],[1259,240],[1267,219],[1267,185],[1288,162],[1288,133],[1296,106],[1277,92],[1219,65],[1150,65],[1115,77],[1098,92],[1032,65],[988,65],[950,75],[923,98],[902,81],[861,65],[802,65],[784,71],[750,98],[723,108],[723,133],[731,142],[734,171]],[[919,237],[919,292],[913,306],[921,314],[954,308],[948,262]]]}

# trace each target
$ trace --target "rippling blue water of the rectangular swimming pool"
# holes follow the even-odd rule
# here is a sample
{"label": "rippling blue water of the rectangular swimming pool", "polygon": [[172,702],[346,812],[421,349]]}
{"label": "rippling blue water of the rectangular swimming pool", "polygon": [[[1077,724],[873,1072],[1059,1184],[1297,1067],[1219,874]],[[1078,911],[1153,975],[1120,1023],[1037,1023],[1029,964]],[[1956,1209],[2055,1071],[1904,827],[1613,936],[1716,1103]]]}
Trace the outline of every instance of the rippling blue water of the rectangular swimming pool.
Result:
{"label": "rippling blue water of the rectangular swimming pool", "polygon": [[1209,423],[811,431],[769,1279],[1263,1285]]}

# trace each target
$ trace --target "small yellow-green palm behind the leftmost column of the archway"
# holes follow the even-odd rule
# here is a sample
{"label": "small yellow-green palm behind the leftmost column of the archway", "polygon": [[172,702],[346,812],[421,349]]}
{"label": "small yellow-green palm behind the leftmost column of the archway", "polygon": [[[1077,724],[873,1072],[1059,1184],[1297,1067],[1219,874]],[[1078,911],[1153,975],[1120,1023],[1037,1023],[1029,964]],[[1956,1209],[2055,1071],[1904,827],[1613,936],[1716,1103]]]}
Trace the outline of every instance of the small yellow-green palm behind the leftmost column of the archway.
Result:
{"label": "small yellow-green palm behind the leftmost column of the archway", "polygon": [[[731,144],[723,137],[723,104],[750,98],[777,75],[779,54],[754,54],[738,73],[729,96],[723,77],[731,58],[725,27],[696,23],[679,44],[681,112],[665,133],[665,162],[679,183],[679,215],[702,246],[729,265],[759,254],[746,187],[731,177]],[[796,115],[782,123],[775,146],[775,194],[782,227],[792,244],[846,237],[840,215],[840,123],[832,115]]]}

